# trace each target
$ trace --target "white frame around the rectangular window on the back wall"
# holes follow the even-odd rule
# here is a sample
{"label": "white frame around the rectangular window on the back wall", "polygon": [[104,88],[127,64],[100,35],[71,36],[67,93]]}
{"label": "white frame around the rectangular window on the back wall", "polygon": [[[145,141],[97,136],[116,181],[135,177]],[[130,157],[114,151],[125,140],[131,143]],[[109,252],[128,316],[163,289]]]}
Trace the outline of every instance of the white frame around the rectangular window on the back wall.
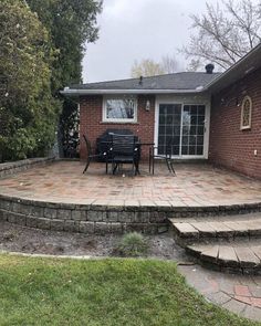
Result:
{"label": "white frame around the rectangular window on the back wall", "polygon": [[[121,118],[107,118],[106,103],[109,99],[124,99],[132,97],[134,99],[134,117],[132,119]],[[115,123],[115,124],[136,124],[137,123],[137,96],[134,95],[109,95],[103,97],[103,123]]]}

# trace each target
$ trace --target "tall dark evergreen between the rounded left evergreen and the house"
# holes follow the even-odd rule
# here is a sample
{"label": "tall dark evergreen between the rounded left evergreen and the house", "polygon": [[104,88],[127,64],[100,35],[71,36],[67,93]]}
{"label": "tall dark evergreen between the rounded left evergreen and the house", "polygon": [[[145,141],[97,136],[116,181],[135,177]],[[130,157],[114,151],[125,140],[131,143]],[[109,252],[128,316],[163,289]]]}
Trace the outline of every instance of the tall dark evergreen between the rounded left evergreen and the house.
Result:
{"label": "tall dark evergreen between the rounded left evergreen and the house", "polygon": [[[102,10],[101,0],[27,0],[51,34],[52,46],[59,57],[52,64],[52,93],[70,84],[82,82],[82,59],[86,42],[97,39],[96,15]],[[61,97],[60,97],[61,98]],[[62,143],[67,143],[72,125],[77,117],[77,105],[71,99],[62,99],[60,130]],[[71,120],[71,122],[70,122]],[[67,146],[67,144],[65,144]]]}

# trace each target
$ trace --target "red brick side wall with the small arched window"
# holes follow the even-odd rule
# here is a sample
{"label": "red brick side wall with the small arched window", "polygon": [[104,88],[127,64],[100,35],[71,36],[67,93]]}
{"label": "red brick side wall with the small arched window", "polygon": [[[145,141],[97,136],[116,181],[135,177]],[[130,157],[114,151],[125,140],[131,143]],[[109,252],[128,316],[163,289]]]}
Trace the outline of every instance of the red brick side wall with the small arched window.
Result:
{"label": "red brick side wall with the small arched window", "polygon": [[[252,124],[251,129],[241,130],[241,103],[246,95],[253,103]],[[210,120],[210,161],[261,179],[261,70],[216,94]]]}

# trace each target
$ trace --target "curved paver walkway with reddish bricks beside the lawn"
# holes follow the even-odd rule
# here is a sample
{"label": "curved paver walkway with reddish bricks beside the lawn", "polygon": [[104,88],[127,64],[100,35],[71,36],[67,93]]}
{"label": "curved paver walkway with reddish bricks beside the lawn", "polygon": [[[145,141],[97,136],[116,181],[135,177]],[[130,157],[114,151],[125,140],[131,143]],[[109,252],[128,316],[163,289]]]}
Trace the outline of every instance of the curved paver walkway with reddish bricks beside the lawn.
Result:
{"label": "curved paver walkway with reddish bricks beside the lawn", "polygon": [[261,323],[261,276],[223,274],[199,265],[179,265],[178,271],[208,301]]}

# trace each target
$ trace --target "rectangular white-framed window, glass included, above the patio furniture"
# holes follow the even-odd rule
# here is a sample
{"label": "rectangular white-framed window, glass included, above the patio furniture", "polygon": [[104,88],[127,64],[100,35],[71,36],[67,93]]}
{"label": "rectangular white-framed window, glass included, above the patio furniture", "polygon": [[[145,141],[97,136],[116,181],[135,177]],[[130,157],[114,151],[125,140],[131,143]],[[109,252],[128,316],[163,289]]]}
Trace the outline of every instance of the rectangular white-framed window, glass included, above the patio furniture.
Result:
{"label": "rectangular white-framed window, glass included, above the patio furniture", "polygon": [[112,123],[136,123],[137,99],[134,96],[106,97],[103,102],[103,120]]}

